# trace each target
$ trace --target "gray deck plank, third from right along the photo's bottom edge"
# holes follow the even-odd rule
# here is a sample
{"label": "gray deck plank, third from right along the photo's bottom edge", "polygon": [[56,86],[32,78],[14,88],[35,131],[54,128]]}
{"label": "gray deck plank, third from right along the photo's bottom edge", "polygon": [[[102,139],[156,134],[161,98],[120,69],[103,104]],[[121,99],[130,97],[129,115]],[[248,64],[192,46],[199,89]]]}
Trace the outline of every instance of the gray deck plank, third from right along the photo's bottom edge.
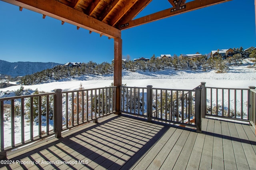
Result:
{"label": "gray deck plank, third from right along the photo's bottom edge", "polygon": [[223,156],[224,156],[224,168],[225,169],[237,169],[236,160],[233,150],[233,145],[228,129],[228,123],[225,121],[221,122],[222,129],[222,143],[223,143]]}

